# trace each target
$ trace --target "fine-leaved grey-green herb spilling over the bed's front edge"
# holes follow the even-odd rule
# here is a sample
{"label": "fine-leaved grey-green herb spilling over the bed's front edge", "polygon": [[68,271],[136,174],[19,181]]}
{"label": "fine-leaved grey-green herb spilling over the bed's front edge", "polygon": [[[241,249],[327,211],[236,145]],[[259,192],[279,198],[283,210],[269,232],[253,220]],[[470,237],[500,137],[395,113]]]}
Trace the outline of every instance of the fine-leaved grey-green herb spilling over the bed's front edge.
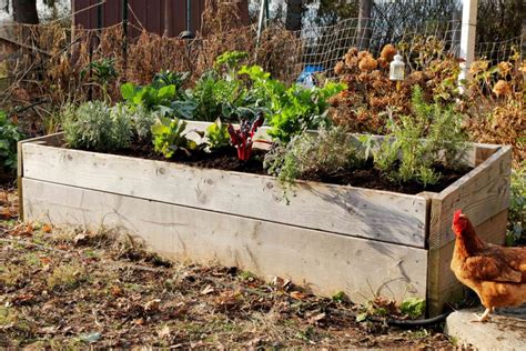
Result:
{"label": "fine-leaved grey-green herb spilling over the bed's front edge", "polygon": [[337,173],[363,163],[363,152],[344,128],[330,127],[317,134],[304,131],[287,143],[279,143],[265,154],[264,167],[284,185],[304,174]]}

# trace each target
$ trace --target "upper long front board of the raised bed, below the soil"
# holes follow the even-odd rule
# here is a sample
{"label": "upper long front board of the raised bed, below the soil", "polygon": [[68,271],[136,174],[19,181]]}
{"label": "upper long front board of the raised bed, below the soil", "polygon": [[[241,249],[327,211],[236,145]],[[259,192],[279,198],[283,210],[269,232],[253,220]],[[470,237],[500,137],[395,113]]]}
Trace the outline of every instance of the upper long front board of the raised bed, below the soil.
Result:
{"label": "upper long front board of the raised bed, below the soil", "polygon": [[23,144],[23,177],[424,248],[424,197],[299,181],[290,204],[275,178]]}

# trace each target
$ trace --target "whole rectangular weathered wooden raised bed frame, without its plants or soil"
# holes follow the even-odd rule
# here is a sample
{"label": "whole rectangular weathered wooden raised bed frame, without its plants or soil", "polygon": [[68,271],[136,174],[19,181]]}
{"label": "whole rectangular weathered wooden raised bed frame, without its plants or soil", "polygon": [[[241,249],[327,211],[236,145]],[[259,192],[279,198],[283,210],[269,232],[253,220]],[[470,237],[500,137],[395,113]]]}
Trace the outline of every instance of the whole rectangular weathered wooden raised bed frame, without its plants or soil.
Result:
{"label": "whole rectangular weathered wooden raised bed frame, without its plants or soil", "polygon": [[473,144],[476,167],[439,193],[300,181],[286,204],[272,177],[64,149],[61,137],[19,144],[23,220],[121,229],[168,258],[289,278],[320,294],[426,297],[436,314],[462,292],[449,270],[454,210],[483,239],[505,238],[509,147]]}

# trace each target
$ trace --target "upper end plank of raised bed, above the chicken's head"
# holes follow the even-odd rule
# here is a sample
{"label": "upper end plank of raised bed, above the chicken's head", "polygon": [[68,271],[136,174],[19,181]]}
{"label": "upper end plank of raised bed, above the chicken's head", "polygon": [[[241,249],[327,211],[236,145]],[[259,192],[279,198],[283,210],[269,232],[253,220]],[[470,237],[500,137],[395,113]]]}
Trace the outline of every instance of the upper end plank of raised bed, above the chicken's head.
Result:
{"label": "upper end plank of raised bed, above the chicken's head", "polygon": [[431,207],[429,249],[452,240],[453,213],[462,209],[476,227],[509,205],[512,148],[500,149],[477,168],[434,197]]}

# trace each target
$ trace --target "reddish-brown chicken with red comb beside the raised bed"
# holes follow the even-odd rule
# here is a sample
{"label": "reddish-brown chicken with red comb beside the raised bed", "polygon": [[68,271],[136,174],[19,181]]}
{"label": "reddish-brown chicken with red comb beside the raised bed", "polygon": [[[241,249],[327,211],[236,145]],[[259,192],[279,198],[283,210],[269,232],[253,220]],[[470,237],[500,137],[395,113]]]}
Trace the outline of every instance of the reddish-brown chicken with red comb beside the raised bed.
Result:
{"label": "reddish-brown chicken with red comb beside the raised bed", "polygon": [[476,321],[487,321],[495,308],[525,303],[526,248],[504,248],[482,241],[462,210],[455,212],[452,229],[456,240],[451,269],[486,308]]}

